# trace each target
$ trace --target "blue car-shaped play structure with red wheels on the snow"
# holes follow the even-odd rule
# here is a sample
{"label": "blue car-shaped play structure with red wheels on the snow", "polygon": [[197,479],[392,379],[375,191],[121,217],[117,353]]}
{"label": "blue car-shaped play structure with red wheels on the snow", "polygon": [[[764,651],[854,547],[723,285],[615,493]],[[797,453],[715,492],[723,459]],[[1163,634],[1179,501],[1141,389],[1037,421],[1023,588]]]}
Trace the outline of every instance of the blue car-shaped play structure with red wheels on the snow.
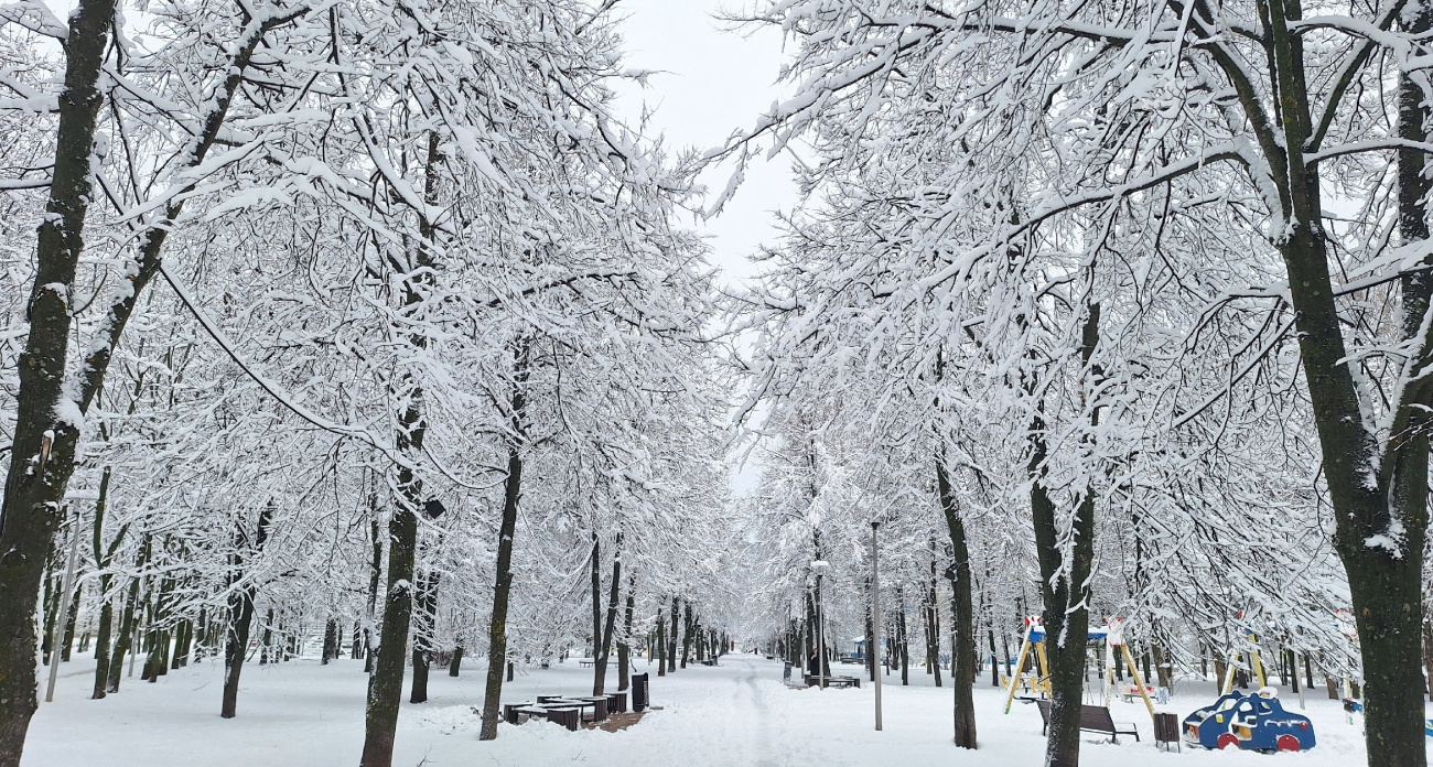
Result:
{"label": "blue car-shaped play structure with red wheels on the snow", "polygon": [[1251,751],[1307,751],[1314,747],[1314,724],[1290,714],[1271,690],[1244,695],[1230,692],[1184,718],[1184,738],[1205,748]]}

